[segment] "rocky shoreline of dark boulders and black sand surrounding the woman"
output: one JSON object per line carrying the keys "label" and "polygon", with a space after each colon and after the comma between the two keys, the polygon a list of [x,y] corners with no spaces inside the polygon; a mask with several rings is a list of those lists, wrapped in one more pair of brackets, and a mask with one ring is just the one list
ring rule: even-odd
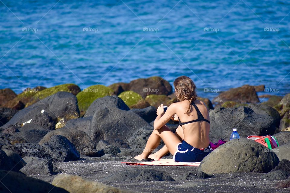
{"label": "rocky shoreline of dark boulders and black sand surrounding the woman", "polygon": [[[177,102],[172,86],[160,77],[84,90],[75,84],[27,88],[18,95],[2,89],[0,176],[8,184],[0,184],[0,190],[288,192],[290,94],[264,95],[269,100],[260,103],[257,92],[264,89],[244,85],[221,92],[212,102],[198,98],[211,109],[212,142],[229,140],[232,128],[241,137],[218,147],[199,167],[121,164],[145,146],[156,108]],[[175,131],[178,124],[167,126]],[[276,136],[279,147],[270,150],[247,139],[268,134]],[[32,191],[35,183],[43,186]]]}

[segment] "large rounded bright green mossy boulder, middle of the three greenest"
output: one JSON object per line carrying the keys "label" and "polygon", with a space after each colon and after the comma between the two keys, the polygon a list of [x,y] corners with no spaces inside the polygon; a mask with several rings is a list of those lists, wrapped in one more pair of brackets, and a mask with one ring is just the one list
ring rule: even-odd
{"label": "large rounded bright green mossy boulder, middle of the three greenest", "polygon": [[111,95],[114,95],[114,90],[101,84],[90,86],[79,92],[76,97],[81,116],[96,99]]}

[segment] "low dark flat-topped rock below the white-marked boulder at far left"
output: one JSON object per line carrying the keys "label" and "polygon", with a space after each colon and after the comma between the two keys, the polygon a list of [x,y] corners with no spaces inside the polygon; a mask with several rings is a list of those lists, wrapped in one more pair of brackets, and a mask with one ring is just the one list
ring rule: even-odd
{"label": "low dark flat-topped rock below the white-marked boulder at far left", "polygon": [[29,131],[21,131],[15,133],[14,135],[16,137],[23,138],[27,143],[37,144],[46,134],[47,131],[29,130]]}

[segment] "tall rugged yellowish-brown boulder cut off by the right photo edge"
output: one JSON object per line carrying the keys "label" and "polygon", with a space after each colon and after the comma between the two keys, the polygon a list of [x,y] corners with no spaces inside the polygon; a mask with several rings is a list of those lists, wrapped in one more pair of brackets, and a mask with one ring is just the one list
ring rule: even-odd
{"label": "tall rugged yellowish-brown boulder cut off by the right photo edge", "polygon": [[274,109],[281,116],[279,129],[281,131],[290,131],[290,94],[285,95],[280,103],[274,106]]}

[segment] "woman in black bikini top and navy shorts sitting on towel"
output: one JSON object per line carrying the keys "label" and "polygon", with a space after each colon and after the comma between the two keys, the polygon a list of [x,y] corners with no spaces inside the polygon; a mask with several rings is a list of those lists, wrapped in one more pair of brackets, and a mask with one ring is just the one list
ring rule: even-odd
{"label": "woman in black bikini top and navy shorts sitting on towel", "polygon": [[[205,103],[196,100],[194,82],[187,76],[180,76],[173,84],[180,102],[172,103],[166,112],[163,104],[158,107],[154,130],[143,153],[135,157],[137,160],[159,160],[170,152],[176,162],[199,162],[210,153],[208,109]],[[170,119],[179,121],[175,133],[165,125]],[[150,155],[161,139],[165,146]]]}

